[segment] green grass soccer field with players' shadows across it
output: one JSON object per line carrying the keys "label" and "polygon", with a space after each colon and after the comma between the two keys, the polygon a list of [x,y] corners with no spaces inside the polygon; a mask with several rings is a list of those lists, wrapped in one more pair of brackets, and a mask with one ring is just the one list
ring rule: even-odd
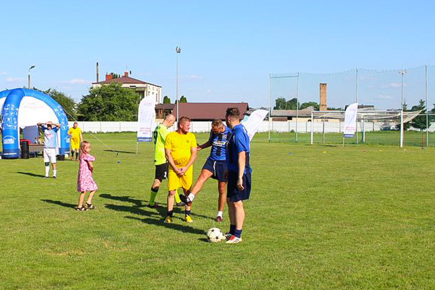
{"label": "green grass soccer field with players' shadows across it", "polygon": [[[0,289],[433,289],[435,148],[251,144],[253,191],[243,242],[212,244],[217,184],[206,183],[193,224],[146,204],[153,146],[135,134],[90,135],[99,186],[77,203],[77,162],[0,160]],[[205,141],[207,134],[198,134]],[[194,164],[198,175],[208,150]],[[118,161],[120,163],[118,163]],[[157,196],[164,203],[166,182]]]}

